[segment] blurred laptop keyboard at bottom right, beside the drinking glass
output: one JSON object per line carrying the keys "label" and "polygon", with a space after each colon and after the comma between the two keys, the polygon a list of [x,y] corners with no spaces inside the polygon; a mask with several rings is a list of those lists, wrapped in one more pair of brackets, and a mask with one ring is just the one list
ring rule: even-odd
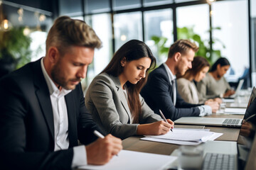
{"label": "blurred laptop keyboard at bottom right, beside the drinking glass", "polygon": [[235,155],[207,153],[203,159],[203,169],[235,169]]}

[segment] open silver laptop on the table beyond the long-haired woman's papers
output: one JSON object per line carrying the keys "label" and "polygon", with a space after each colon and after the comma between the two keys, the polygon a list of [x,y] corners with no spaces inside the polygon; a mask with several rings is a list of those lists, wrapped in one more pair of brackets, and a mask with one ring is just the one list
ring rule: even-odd
{"label": "open silver laptop on the table beyond the long-haired woman's papers", "polygon": [[[249,102],[247,104],[247,109],[250,103],[255,100],[256,89],[253,87],[252,94],[250,95]],[[249,112],[245,111],[244,118],[247,118]],[[227,126],[227,127],[240,127],[242,125],[242,119],[238,118],[205,118],[205,117],[183,117],[174,121],[175,124],[183,125],[212,125],[212,126]]]}

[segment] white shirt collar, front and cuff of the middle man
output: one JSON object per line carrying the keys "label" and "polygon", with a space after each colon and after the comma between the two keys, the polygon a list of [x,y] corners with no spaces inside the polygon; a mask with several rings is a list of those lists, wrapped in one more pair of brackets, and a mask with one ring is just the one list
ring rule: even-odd
{"label": "white shirt collar, front and cuff of the middle man", "polygon": [[[167,66],[166,63],[163,63],[164,65],[164,68],[166,69],[166,72],[168,74],[168,77],[169,77],[169,81],[171,83],[171,81],[175,80],[176,79],[176,76],[171,72],[171,69],[169,69],[169,67]],[[172,83],[171,83],[172,84]],[[176,93],[177,91],[173,91],[173,94],[175,94],[175,103],[174,103],[174,106],[176,104]],[[202,106],[198,106],[199,110],[200,110],[200,114],[199,116],[204,116],[204,115],[211,115],[212,114],[212,109],[210,108],[210,106],[208,105],[202,105]]]}

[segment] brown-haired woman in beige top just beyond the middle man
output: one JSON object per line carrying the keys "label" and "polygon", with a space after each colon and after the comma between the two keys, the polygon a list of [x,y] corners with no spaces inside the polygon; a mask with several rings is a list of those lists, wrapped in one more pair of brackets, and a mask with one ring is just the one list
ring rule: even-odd
{"label": "brown-haired woman in beige top just beyond the middle man", "polygon": [[203,98],[196,89],[196,84],[193,81],[199,82],[206,77],[210,67],[209,62],[204,57],[194,57],[192,68],[188,69],[186,73],[177,79],[178,94],[184,101],[192,104],[205,103],[210,105],[212,102],[222,103],[220,98],[208,99]]}

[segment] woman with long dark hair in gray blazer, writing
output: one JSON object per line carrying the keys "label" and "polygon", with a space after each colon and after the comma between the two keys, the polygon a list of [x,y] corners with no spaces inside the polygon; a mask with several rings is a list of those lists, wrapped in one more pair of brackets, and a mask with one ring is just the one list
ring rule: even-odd
{"label": "woman with long dark hair in gray blazer, writing", "polygon": [[85,105],[106,132],[124,139],[132,135],[162,135],[173,128],[171,120],[164,122],[139,95],[155,62],[144,42],[130,40],[93,79],[85,95]]}

